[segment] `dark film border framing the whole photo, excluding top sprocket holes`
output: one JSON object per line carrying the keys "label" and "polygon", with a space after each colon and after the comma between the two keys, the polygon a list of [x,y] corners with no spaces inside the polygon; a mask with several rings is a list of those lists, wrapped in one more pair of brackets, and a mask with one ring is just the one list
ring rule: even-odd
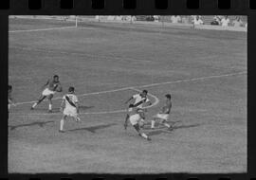
{"label": "dark film border framing the whole photo, excluding top sprocket holes", "polygon": [[[200,0],[199,9],[186,9],[187,0],[168,0],[167,9],[155,9],[155,0],[137,0],[137,9],[122,9],[122,0],[105,0],[104,9],[92,9],[91,0],[74,0],[73,9],[60,9],[60,0],[42,0],[42,9],[28,9],[27,0],[9,0],[9,9],[0,9],[0,79],[1,99],[7,100],[8,92],[8,53],[9,53],[9,15],[247,15],[247,173],[230,174],[8,174],[8,108],[1,106],[0,126],[0,179],[189,179],[200,180],[228,178],[230,180],[249,180],[256,178],[256,108],[254,65],[256,60],[256,9],[249,9],[249,0],[231,0],[230,9],[218,9],[217,0]],[[0,4],[2,1],[0,1]],[[254,60],[254,61],[253,61]],[[4,100],[4,101],[5,101]]]}

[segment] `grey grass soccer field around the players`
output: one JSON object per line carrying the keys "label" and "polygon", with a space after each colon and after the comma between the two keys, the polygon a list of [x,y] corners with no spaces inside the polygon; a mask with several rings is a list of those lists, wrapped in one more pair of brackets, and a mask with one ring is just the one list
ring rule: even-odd
{"label": "grey grass soccer field around the players", "polygon": [[[68,28],[60,28],[67,26]],[[246,172],[247,33],[9,19],[9,172]],[[31,30],[31,29],[46,30]],[[28,31],[19,31],[28,30]],[[82,123],[60,134],[60,97],[30,111],[54,74],[76,87]],[[170,122],[123,129],[124,101],[147,89],[148,123],[173,96]],[[157,125],[157,124],[156,124]]]}

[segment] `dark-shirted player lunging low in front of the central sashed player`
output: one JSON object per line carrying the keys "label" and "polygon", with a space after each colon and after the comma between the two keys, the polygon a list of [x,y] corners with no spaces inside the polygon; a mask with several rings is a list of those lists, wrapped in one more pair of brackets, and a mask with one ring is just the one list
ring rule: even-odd
{"label": "dark-shirted player lunging low in front of the central sashed player", "polygon": [[144,114],[143,110],[137,109],[136,114],[130,116],[129,120],[130,120],[131,124],[133,125],[133,127],[136,129],[139,136],[142,136],[147,140],[151,140],[151,138],[148,135],[140,132],[139,123],[140,123],[140,120],[142,119],[143,114]]}

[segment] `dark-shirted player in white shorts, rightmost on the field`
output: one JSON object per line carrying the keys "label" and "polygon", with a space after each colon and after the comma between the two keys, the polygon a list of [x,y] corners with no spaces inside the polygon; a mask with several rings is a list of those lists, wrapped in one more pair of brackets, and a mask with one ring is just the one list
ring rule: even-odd
{"label": "dark-shirted player in white shorts, rightmost on the field", "polygon": [[172,108],[171,95],[167,94],[167,95],[165,95],[165,97],[166,97],[165,105],[162,107],[162,110],[158,114],[156,114],[154,116],[154,119],[151,121],[151,128],[152,129],[155,128],[155,120],[159,119],[160,122],[164,126],[169,128],[169,130],[172,130],[172,126],[166,122],[169,118],[169,115],[171,113],[171,108]]}

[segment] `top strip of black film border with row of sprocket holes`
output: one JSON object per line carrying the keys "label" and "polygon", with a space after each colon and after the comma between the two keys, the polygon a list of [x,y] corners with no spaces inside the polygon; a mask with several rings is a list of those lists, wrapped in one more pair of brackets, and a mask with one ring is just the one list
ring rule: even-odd
{"label": "top strip of black film border with row of sprocket holes", "polygon": [[1,0],[0,11],[16,14],[240,14],[255,0]]}

